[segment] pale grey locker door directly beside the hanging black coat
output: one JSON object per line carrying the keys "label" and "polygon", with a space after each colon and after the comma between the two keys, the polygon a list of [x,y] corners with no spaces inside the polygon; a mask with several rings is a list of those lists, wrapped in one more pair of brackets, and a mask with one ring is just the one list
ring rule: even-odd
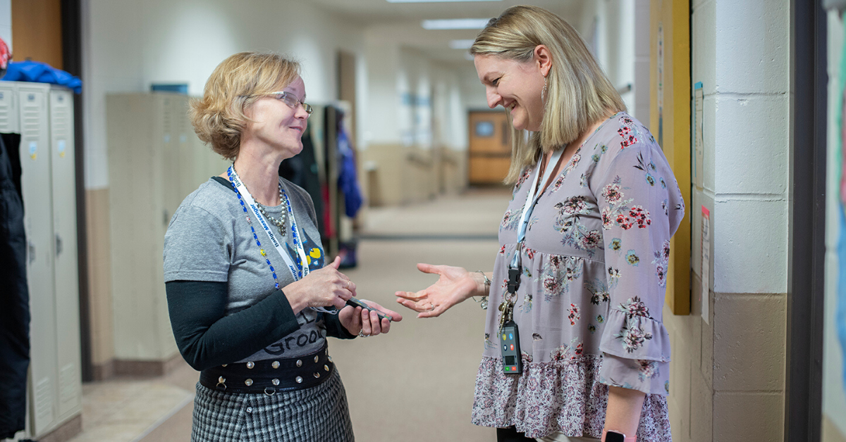
{"label": "pale grey locker door directly beside the hanging black coat", "polygon": [[36,435],[57,417],[56,299],[53,296],[53,228],[47,86],[18,88],[21,129],[21,187],[27,238],[26,278],[30,286],[31,398]]}

